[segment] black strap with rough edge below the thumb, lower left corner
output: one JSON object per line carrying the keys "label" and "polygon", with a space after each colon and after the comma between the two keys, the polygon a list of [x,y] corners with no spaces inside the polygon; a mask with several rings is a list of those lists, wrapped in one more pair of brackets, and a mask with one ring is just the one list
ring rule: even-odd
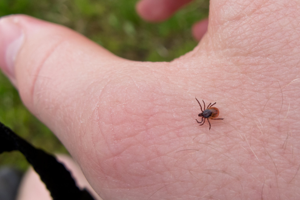
{"label": "black strap with rough edge below the thumb, lower left corner", "polygon": [[0,122],[0,153],[20,151],[40,175],[53,200],[94,200],[87,190],[80,190],[70,172],[56,158],[36,149]]}

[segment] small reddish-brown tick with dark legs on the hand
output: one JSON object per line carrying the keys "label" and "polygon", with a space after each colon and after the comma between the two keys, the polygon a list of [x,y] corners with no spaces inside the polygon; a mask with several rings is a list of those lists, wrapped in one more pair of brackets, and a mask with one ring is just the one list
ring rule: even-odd
{"label": "small reddish-brown tick with dark legs on the hand", "polygon": [[[195,99],[197,100],[197,98],[195,97]],[[202,99],[203,101],[203,99]],[[200,105],[200,108],[201,108],[201,111],[202,113],[199,113],[199,117],[201,117],[201,121],[198,121],[196,119],[196,121],[200,124],[199,126],[202,126],[205,122],[205,119],[207,119],[208,121],[208,124],[209,124],[209,130],[210,130],[210,122],[208,119],[211,119],[211,120],[223,120],[223,118],[216,118],[218,115],[219,115],[219,109],[217,109],[216,107],[212,107],[213,105],[215,105],[217,102],[214,102],[213,104],[210,103],[208,104],[207,106],[207,109],[205,109],[205,103],[203,101],[203,104],[204,104],[204,111],[202,110],[202,106],[200,104],[200,102],[197,100],[198,104]],[[202,123],[203,122],[203,123]]]}

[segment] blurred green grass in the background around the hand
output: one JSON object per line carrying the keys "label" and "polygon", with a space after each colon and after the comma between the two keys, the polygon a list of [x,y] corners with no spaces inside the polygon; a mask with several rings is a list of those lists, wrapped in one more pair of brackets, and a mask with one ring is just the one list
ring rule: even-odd
{"label": "blurred green grass in the background around the hand", "polygon": [[[208,16],[208,0],[196,0],[163,23],[147,23],[135,12],[137,0],[1,0],[0,16],[22,13],[62,24],[82,33],[112,53],[131,60],[170,61],[197,42],[192,24]],[[22,105],[17,91],[0,72],[0,121],[34,146],[67,153],[63,145]],[[25,170],[20,153],[0,155],[0,166]]]}

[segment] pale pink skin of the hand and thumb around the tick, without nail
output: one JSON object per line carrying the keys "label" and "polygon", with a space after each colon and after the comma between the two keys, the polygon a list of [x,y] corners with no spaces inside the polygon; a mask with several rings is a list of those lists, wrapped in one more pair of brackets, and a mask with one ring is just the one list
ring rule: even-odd
{"label": "pale pink skin of the hand and thumb around the tick, without nail", "polygon": [[[170,63],[16,16],[26,39],[8,76],[105,200],[299,199],[299,8],[212,0],[206,35]],[[224,118],[210,131],[195,96]]]}

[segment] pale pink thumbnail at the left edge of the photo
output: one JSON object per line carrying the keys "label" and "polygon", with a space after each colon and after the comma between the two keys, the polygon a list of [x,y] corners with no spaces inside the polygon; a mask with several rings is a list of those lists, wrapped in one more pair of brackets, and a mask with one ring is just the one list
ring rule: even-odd
{"label": "pale pink thumbnail at the left edge of the photo", "polygon": [[0,67],[10,77],[14,77],[14,63],[23,40],[24,32],[17,17],[0,18]]}

